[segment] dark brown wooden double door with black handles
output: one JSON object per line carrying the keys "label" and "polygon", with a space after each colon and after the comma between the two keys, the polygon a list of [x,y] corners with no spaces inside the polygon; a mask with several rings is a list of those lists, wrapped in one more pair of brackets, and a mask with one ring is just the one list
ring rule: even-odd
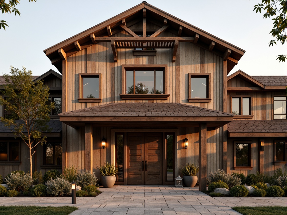
{"label": "dark brown wooden double door with black handles", "polygon": [[162,185],[162,133],[127,133],[127,184]]}

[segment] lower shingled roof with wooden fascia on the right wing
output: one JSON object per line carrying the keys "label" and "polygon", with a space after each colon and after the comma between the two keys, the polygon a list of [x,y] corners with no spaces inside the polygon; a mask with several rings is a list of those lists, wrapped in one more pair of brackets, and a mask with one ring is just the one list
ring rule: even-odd
{"label": "lower shingled roof with wooden fascia on the right wing", "polygon": [[228,137],[287,137],[287,120],[234,120]]}

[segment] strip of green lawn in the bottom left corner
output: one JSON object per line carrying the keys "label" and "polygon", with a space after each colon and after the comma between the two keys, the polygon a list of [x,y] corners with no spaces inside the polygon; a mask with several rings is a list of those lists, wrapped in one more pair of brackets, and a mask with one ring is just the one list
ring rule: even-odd
{"label": "strip of green lawn in the bottom left corner", "polygon": [[40,207],[40,206],[0,206],[1,215],[67,215],[77,210],[77,207],[62,206],[62,207]]}

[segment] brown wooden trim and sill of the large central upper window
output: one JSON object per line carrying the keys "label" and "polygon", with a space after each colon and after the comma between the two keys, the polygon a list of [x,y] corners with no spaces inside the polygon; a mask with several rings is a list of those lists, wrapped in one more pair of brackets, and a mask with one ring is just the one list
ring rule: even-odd
{"label": "brown wooden trim and sill of the large central upper window", "polygon": [[[126,88],[126,77],[125,77],[125,71],[126,70],[134,70],[134,69],[163,69],[164,73],[164,94],[126,94],[125,88]],[[144,65],[127,65],[123,64],[122,65],[122,90],[121,94],[119,96],[121,99],[135,99],[135,100],[154,100],[154,99],[159,99],[159,100],[167,100],[169,97],[168,93],[168,67],[166,64],[144,64]]]}

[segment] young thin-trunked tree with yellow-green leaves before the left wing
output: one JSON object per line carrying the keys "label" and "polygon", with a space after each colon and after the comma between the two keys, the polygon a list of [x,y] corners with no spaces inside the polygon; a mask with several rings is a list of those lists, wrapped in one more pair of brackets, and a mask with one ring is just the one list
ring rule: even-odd
{"label": "young thin-trunked tree with yellow-green leaves before the left wing", "polygon": [[49,103],[49,87],[42,80],[33,82],[32,71],[26,71],[10,67],[10,74],[4,74],[6,84],[3,95],[0,96],[0,105],[5,105],[5,112],[11,113],[9,117],[1,117],[13,131],[15,137],[21,137],[29,148],[30,175],[32,177],[32,156],[38,144],[46,142],[42,137],[44,131],[48,131],[51,108],[54,103]]}

